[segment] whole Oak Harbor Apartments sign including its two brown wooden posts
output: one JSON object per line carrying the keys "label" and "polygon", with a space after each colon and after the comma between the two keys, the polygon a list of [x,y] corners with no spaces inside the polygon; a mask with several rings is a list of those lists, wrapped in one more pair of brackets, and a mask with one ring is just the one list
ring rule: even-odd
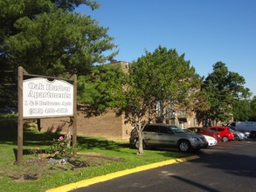
{"label": "whole Oak Harbor Apartments sign including its two brown wooden posts", "polygon": [[59,79],[29,74],[18,67],[17,165],[23,157],[24,119],[71,117],[73,147],[77,143],[77,76]]}

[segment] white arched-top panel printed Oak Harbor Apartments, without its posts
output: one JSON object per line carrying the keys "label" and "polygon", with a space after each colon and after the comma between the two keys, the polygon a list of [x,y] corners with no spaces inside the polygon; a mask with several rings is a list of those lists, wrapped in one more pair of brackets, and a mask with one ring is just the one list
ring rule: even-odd
{"label": "white arched-top panel printed Oak Harbor Apartments, without its posts", "polygon": [[23,80],[23,117],[73,116],[73,85],[65,80]]}

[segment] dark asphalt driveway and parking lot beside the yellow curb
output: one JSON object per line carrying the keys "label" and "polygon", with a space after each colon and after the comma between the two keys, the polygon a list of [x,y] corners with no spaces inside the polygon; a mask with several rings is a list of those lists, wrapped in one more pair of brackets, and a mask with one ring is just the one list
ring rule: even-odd
{"label": "dark asphalt driveway and parking lot beside the yellow curb", "polygon": [[256,140],[219,142],[197,159],[100,182],[74,191],[255,191]]}

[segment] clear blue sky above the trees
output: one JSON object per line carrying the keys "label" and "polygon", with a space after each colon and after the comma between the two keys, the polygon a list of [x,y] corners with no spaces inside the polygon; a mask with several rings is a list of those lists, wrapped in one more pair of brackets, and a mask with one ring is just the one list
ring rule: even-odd
{"label": "clear blue sky above the trees", "polygon": [[108,27],[118,61],[132,62],[159,45],[185,54],[207,77],[212,65],[225,63],[256,95],[255,0],[98,0],[100,8],[76,11]]}

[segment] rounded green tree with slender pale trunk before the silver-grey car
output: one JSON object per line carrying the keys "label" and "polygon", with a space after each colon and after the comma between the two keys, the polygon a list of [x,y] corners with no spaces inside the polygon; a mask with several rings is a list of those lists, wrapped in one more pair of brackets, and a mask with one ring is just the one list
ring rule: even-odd
{"label": "rounded green tree with slender pale trunk before the silver-grey car", "polygon": [[[145,52],[129,65],[128,79],[120,93],[116,93],[118,113],[124,113],[128,122],[137,130],[138,154],[143,153],[142,128],[147,122],[156,121],[158,102],[189,106],[200,79],[190,61],[184,60],[176,50],[159,46],[156,51]],[[165,102],[167,101],[167,102]],[[161,109],[162,110],[162,109]]]}

